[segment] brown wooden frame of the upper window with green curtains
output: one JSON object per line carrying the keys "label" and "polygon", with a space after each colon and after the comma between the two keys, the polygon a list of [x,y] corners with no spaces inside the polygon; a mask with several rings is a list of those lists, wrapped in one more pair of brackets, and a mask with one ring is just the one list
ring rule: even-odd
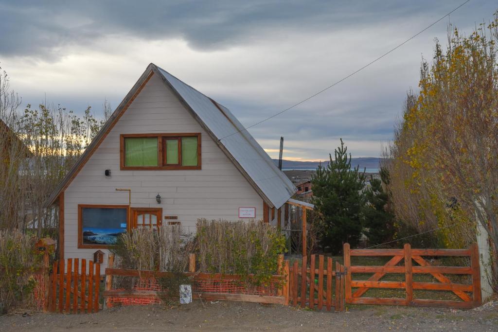
{"label": "brown wooden frame of the upper window with green curtains", "polygon": [[[157,137],[157,166],[125,166],[124,165],[124,139],[127,137]],[[181,165],[181,138],[197,137],[197,166]],[[166,139],[178,139],[178,164],[166,164]],[[121,134],[120,135],[120,169],[121,170],[200,170],[202,169],[201,159],[201,133],[147,133],[147,134]]]}

